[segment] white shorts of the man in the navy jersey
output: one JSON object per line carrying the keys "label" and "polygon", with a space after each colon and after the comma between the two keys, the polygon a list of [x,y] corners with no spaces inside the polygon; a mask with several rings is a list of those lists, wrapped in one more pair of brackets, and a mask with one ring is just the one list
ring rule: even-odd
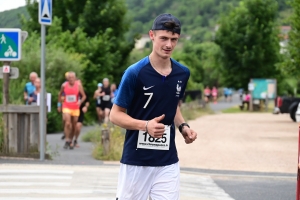
{"label": "white shorts of the man in the navy jersey", "polygon": [[178,200],[179,164],[144,167],[121,164],[117,200]]}

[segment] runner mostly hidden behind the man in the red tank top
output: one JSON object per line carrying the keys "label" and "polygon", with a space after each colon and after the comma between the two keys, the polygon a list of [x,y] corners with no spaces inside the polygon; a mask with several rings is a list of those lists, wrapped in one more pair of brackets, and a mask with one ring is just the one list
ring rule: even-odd
{"label": "runner mostly hidden behind the man in the red tank top", "polygon": [[[78,79],[77,82],[80,85],[82,85],[81,80]],[[88,95],[87,95],[85,90],[84,90],[84,94],[86,96],[86,99],[84,100],[84,102],[82,101],[82,103],[80,105],[80,114],[79,114],[79,117],[78,117],[78,121],[76,123],[75,132],[72,131],[71,141],[74,139],[74,142],[71,143],[71,146],[73,146],[73,147],[79,147],[77,141],[78,141],[78,137],[79,137],[79,134],[80,134],[80,131],[81,131],[81,128],[82,128],[82,124],[83,124],[83,120],[84,120],[84,114],[87,112],[87,110],[90,106],[89,98],[88,98]],[[80,100],[81,99],[82,99],[82,97],[80,95]],[[73,135],[73,133],[75,135]]]}

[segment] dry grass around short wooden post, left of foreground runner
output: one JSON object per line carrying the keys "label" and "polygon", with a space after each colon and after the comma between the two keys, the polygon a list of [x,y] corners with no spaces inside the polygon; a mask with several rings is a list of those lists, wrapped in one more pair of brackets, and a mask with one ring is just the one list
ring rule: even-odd
{"label": "dry grass around short wooden post, left of foreground runner", "polygon": [[121,159],[125,134],[123,129],[117,126],[110,128],[110,146],[109,153],[104,155],[103,145],[101,143],[101,130],[103,127],[97,127],[94,130],[89,131],[83,135],[82,140],[84,142],[92,142],[94,148],[92,156],[97,160],[110,160],[117,161]]}

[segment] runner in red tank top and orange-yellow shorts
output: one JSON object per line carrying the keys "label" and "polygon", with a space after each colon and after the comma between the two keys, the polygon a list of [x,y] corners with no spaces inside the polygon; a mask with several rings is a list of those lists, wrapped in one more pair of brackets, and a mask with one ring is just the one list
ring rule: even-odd
{"label": "runner in red tank top and orange-yellow shorts", "polygon": [[[80,115],[79,108],[81,102],[84,102],[86,99],[86,95],[83,91],[81,84],[79,84],[79,82],[76,81],[75,72],[68,73],[68,81],[63,83],[59,91],[59,95],[58,95],[59,100],[61,100],[62,93],[65,94],[65,98],[62,103],[62,112],[65,121],[64,133],[65,133],[65,140],[66,140],[64,148],[73,149],[73,146],[71,145],[72,131],[75,132],[78,117]],[[79,95],[81,95],[80,100],[79,100]]]}

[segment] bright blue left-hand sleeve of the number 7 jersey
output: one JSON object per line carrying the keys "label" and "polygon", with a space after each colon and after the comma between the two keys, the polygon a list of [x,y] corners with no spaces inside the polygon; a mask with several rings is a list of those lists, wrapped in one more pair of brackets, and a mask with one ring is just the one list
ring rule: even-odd
{"label": "bright blue left-hand sleeve of the number 7 jersey", "polygon": [[125,71],[118,88],[118,95],[114,104],[128,109],[135,95],[135,86],[137,80],[137,71],[134,67],[129,67]]}

